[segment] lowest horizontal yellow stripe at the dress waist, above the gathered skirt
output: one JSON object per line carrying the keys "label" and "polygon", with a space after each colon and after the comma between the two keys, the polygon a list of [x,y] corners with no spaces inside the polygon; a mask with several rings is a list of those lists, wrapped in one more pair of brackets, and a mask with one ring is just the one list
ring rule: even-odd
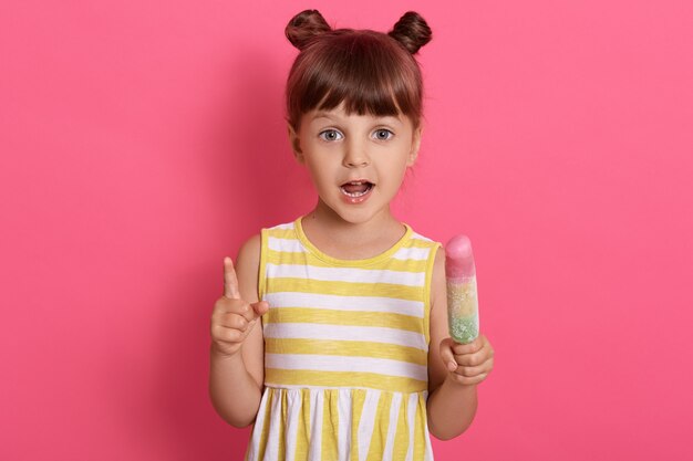
{"label": "lowest horizontal yellow stripe at the dress waist, above the gathered skirt", "polygon": [[427,388],[424,380],[400,376],[379,375],[362,371],[316,371],[267,368],[265,380],[268,385],[316,386],[316,387],[355,387],[390,390],[393,392],[420,392]]}

